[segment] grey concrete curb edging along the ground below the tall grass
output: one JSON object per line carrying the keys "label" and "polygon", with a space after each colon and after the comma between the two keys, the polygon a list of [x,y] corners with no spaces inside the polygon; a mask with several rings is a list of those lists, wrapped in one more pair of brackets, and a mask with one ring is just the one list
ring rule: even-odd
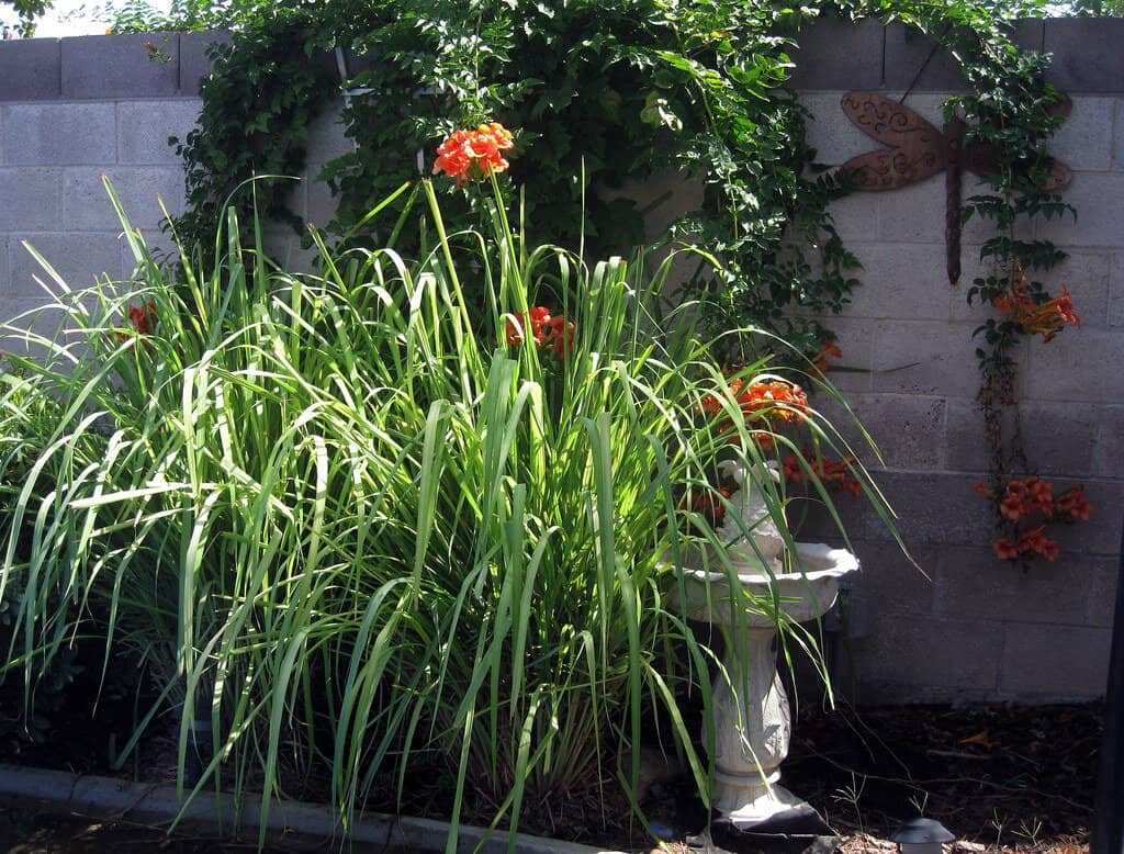
{"label": "grey concrete curb edging along the ground below the tall grass", "polygon": [[[175,787],[130,783],[106,776],[71,774],[64,771],[27,769],[0,764],[0,798],[36,801],[100,820],[130,820],[167,825],[181,814]],[[261,798],[246,798],[241,814],[234,796],[200,792],[182,811],[178,828],[203,836],[229,837],[236,825],[243,838],[256,839]],[[297,851],[330,851],[344,845],[379,846],[384,852],[443,852],[448,824],[427,818],[369,814],[355,821],[346,837],[338,817],[328,807],[273,800],[266,821],[265,844]],[[459,851],[501,854],[507,835],[462,825]],[[519,834],[518,854],[623,854],[588,845]]]}

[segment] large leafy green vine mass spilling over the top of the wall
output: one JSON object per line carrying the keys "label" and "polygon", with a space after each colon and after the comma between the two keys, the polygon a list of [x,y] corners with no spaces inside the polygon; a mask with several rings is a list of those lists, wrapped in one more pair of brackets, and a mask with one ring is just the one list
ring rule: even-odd
{"label": "large leafy green vine mass spilling over the top of the wall", "polygon": [[[1000,208],[1015,216],[1035,212],[1035,199],[1057,202],[1041,189],[1043,142],[1057,125],[1046,117],[1058,98],[1043,80],[1049,58],[1010,38],[1013,21],[1035,13],[1041,3],[1019,0],[179,0],[169,18],[127,4],[117,28],[234,31],[201,85],[199,126],[181,140],[181,237],[206,243],[251,175],[300,172],[309,124],[339,103],[338,47],[362,57],[348,85],[369,93],[344,110],[355,152],[320,175],[339,200],[337,234],[418,178],[418,152],[425,172],[451,129],[499,120],[517,130],[510,191],[533,236],[577,245],[584,229],[591,252],[626,249],[643,239],[644,211],[611,190],[668,170],[700,179],[701,207],[671,236],[723,261],[720,273],[701,267],[691,282],[709,321],[762,325],[815,353],[832,336],[809,318],[842,310],[859,265],[828,212],[846,179],[817,169],[807,113],[786,85],[801,33],[821,17],[874,17],[950,51],[970,88],[954,105],[969,139],[999,151],[998,201],[975,212],[1005,227]],[[290,187],[264,191],[282,218]],[[472,217],[473,196],[452,182],[448,192],[448,209]],[[1032,203],[1016,210],[1015,196]],[[252,203],[245,191],[234,199]],[[368,225],[386,236],[396,214]]]}

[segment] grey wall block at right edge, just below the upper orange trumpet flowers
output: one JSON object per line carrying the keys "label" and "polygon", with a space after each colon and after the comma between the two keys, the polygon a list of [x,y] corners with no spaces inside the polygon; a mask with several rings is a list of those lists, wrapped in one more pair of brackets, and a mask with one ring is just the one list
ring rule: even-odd
{"label": "grey wall block at right edge, just below the upper orange trumpet flowers", "polygon": [[1022,373],[1023,400],[1069,406],[1124,400],[1118,333],[1067,328],[1049,344],[1035,343]]}

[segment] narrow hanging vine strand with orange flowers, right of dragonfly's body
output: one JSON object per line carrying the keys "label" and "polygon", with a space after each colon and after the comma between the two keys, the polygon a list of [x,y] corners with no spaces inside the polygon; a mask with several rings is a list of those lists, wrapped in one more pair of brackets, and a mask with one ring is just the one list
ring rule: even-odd
{"label": "narrow hanging vine strand with orange flowers, right of dragonfly's body", "polygon": [[975,47],[973,62],[964,66],[973,94],[950,100],[946,112],[963,117],[967,138],[987,145],[998,166],[987,178],[988,191],[970,197],[963,207],[963,221],[980,217],[995,224],[994,236],[981,248],[990,272],[973,280],[968,301],[999,315],[976,330],[981,339],[976,355],[988,451],[988,479],[977,491],[995,507],[996,556],[1025,565],[1055,560],[1059,544],[1048,533],[1051,527],[1088,519],[1093,511],[1082,485],[1055,492],[1034,473],[1018,407],[1018,343],[1032,338],[1049,346],[1066,326],[1080,326],[1068,288],[1062,284],[1060,292],[1051,292],[1037,278],[1066,254],[1050,240],[1022,236],[1026,229],[1019,228],[1036,217],[1077,216],[1057,192],[1068,170],[1044,147],[1064,120],[1069,102],[1044,81],[1049,57],[988,43]]}

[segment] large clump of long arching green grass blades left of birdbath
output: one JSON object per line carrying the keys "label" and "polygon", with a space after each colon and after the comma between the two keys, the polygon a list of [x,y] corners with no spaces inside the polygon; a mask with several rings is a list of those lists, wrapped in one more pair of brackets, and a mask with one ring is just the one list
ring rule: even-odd
{"label": "large clump of long arching green grass blades left of birdbath", "polygon": [[[434,243],[416,261],[314,234],[319,274],[290,273],[230,221],[214,269],[167,269],[123,214],[133,282],[75,292],[44,262],[63,335],[26,334],[45,355],[0,399],[8,676],[97,633],[107,669],[130,649],[160,693],[123,761],[182,703],[181,774],[191,721],[215,725],[197,790],[268,810],[327,769],[344,827],[445,769],[450,851],[464,815],[514,844],[520,816],[607,784],[638,808],[655,718],[706,800],[709,739],[681,706],[708,719],[736,674],[678,606],[683,555],[720,546],[694,497],[763,453],[729,378],[691,307],[663,310],[670,260],[526,246],[498,203],[491,233],[447,235],[414,192]],[[715,401],[733,430],[700,417]]]}

